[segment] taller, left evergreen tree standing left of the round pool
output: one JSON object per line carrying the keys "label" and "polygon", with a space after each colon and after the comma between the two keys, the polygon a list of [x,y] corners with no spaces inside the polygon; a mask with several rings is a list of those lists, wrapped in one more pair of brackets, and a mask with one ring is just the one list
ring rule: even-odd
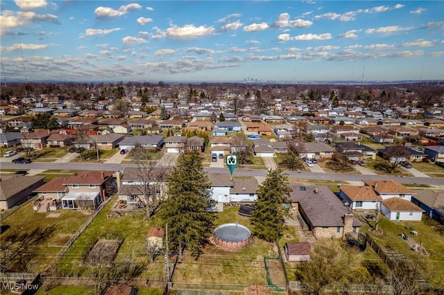
{"label": "taller, left evergreen tree standing left of the round pool", "polygon": [[211,184],[200,154],[181,154],[167,180],[168,199],[160,217],[168,224],[170,247],[177,249],[179,256],[183,248],[197,256],[210,238],[214,222],[214,215],[207,211],[212,206]]}

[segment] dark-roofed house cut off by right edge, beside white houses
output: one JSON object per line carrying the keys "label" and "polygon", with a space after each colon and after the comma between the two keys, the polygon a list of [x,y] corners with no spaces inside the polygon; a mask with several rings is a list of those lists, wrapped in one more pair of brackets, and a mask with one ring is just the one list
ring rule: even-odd
{"label": "dark-roofed house cut off by right edge, beside white houses", "polygon": [[444,219],[444,193],[439,190],[416,190],[411,202],[436,219]]}

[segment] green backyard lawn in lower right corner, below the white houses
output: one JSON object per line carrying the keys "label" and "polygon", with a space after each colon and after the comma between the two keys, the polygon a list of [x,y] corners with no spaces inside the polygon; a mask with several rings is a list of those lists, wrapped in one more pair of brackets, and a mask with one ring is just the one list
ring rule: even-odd
{"label": "green backyard lawn in lower right corner, below the white houses", "polygon": [[[409,244],[400,237],[400,233],[408,236],[409,240],[414,240],[416,244],[422,244],[422,247],[429,253],[429,256],[420,256],[425,263],[425,270],[427,274],[431,274],[430,283],[435,287],[444,287],[444,239],[443,239],[443,225],[438,224],[436,220],[432,220],[426,215],[422,215],[420,222],[400,222],[390,221],[386,217],[382,217],[379,223],[379,229],[383,231],[382,235],[375,235],[368,232],[370,226],[364,223],[361,232],[366,232],[370,235],[379,246],[390,247],[399,251],[407,258],[412,258],[417,254],[414,253]],[[372,225],[374,222],[370,222]],[[412,236],[406,226],[413,226],[418,236]]]}

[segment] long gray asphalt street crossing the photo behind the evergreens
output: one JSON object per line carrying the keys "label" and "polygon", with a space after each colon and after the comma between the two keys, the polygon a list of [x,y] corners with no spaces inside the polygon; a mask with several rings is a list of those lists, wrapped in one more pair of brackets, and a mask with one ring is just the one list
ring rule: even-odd
{"label": "long gray asphalt street crossing the photo behind the evergreens", "polygon": [[[126,167],[137,167],[135,164],[104,164],[104,163],[29,163],[29,164],[13,164],[0,163],[0,169],[44,169],[44,170],[123,170]],[[205,168],[207,172],[228,172],[227,168]],[[255,169],[235,169],[234,176],[253,176],[265,177],[266,170]],[[295,172],[286,171],[289,178],[293,179],[316,179],[327,180],[332,183],[341,183],[343,181],[361,181],[362,179],[395,179],[401,184],[431,184],[437,186],[444,185],[444,179],[441,177],[396,177],[384,175],[348,175],[348,174],[334,174],[334,173],[318,173],[318,172]]]}

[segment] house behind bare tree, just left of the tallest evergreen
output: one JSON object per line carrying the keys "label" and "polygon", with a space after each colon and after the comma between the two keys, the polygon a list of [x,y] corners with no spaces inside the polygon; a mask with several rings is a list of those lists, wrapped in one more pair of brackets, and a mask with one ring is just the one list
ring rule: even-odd
{"label": "house behind bare tree, just left of the tallest evergreen", "polygon": [[163,167],[125,168],[116,173],[117,195],[128,204],[146,204],[146,195],[164,197],[167,191],[167,175],[171,170]]}

